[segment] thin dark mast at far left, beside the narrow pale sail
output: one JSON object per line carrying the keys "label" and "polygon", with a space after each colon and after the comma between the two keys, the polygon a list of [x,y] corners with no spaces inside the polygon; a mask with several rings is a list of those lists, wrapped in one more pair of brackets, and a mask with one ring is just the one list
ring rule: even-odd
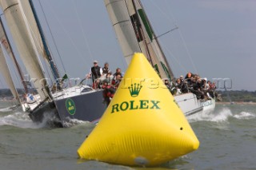
{"label": "thin dark mast at far left, beside the narrow pale sail", "polygon": [[14,51],[13,51],[11,45],[10,45],[9,38],[7,37],[7,34],[6,34],[6,29],[5,29],[5,27],[3,26],[3,24],[2,24],[2,18],[1,18],[1,17],[0,17],[0,24],[1,24],[1,26],[2,26],[2,31],[3,31],[3,33],[5,34],[5,38],[6,38],[6,42],[4,42],[4,41],[5,41],[4,39],[2,39],[1,41],[2,41],[2,43],[7,43],[7,44],[8,44],[8,47],[10,48],[10,56],[11,56],[11,58],[12,58],[13,61],[14,61],[14,65],[16,66],[16,69],[18,70],[18,75],[19,75],[19,77],[20,77],[20,79],[21,79],[21,81],[22,81],[22,85],[23,85],[23,87],[24,87],[24,90],[25,90],[26,93],[28,93],[29,91],[28,91],[28,89],[27,89],[26,81],[25,81],[25,79],[24,79],[24,77],[23,77],[23,74],[22,74],[22,69],[20,68],[20,66],[19,66],[19,64],[18,64],[18,61],[17,61],[17,59],[16,59],[16,57],[15,57],[15,55],[14,55]]}

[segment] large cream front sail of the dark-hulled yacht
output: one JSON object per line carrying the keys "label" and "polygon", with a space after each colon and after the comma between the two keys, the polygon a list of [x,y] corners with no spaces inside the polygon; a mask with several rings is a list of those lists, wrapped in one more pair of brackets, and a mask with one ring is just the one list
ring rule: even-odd
{"label": "large cream front sail of the dark-hulled yacht", "polygon": [[32,33],[31,24],[29,24],[33,21],[30,21],[30,17],[25,15],[22,3],[19,0],[0,0],[0,6],[5,14],[18,53],[26,66],[27,72],[33,78],[34,87],[37,89],[41,99],[44,100],[50,96],[50,93],[42,71],[42,65],[38,59],[37,42],[34,41],[34,33]]}

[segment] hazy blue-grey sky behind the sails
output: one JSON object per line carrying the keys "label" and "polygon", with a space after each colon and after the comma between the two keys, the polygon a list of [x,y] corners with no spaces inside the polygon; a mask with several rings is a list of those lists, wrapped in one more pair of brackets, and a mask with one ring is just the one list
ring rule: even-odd
{"label": "hazy blue-grey sky behind the sails", "polygon": [[[83,78],[94,60],[102,66],[108,61],[112,71],[117,67],[125,71],[103,0],[40,2],[54,42],[40,4],[34,1],[62,74],[66,70],[70,77]],[[256,1],[142,0],[142,5],[155,34],[178,26],[158,39],[176,77],[190,71],[209,80],[228,78],[232,89],[256,90]]]}

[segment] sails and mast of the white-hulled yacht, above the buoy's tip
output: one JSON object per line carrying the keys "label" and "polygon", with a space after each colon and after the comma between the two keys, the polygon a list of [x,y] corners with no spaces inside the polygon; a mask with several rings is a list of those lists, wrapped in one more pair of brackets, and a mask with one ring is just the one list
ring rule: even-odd
{"label": "sails and mast of the white-hulled yacht, above the buoy's tip", "polygon": [[154,35],[139,0],[104,0],[126,61],[142,52],[162,78],[174,79],[170,66]]}

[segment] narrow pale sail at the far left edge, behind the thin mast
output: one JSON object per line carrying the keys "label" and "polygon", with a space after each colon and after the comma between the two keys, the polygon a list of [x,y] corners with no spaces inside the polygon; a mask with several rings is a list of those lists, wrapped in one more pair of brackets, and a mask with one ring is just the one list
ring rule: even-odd
{"label": "narrow pale sail at the far left edge, behind the thin mast", "polygon": [[[1,42],[2,42],[2,28],[1,28],[1,26],[0,26],[0,38],[1,38]],[[3,77],[5,78],[6,83],[7,83],[8,87],[10,88],[10,91],[13,94],[14,98],[20,104],[20,99],[18,97],[18,92],[15,88],[14,81],[11,78],[10,69],[7,65],[6,58],[5,58],[5,56],[2,52],[2,45],[0,47],[0,71],[3,75]]]}

